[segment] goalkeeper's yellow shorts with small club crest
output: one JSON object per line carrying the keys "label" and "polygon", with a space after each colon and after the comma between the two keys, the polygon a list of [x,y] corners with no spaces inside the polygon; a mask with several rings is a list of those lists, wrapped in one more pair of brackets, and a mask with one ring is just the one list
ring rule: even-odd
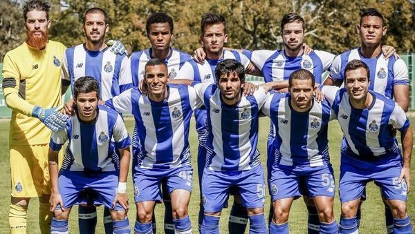
{"label": "goalkeeper's yellow shorts with small club crest", "polygon": [[[50,194],[48,144],[32,146],[10,145],[12,197],[39,197]],[[59,152],[62,162],[63,150]]]}

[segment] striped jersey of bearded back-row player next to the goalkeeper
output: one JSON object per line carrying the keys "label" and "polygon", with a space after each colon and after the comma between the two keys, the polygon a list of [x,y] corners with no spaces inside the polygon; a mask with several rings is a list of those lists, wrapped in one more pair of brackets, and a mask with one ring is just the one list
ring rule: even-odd
{"label": "striped jersey of bearded back-row player next to the goalkeeper", "polygon": [[94,77],[100,84],[101,99],[107,100],[132,88],[127,55],[116,55],[109,47],[102,51],[86,49],[85,44],[67,48],[62,59],[62,78],[71,86],[80,77]]}

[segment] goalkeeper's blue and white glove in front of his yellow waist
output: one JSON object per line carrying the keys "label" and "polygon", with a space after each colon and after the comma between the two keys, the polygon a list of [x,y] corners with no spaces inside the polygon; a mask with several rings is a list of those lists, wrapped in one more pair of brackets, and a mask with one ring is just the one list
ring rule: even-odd
{"label": "goalkeeper's blue and white glove in front of his yellow waist", "polygon": [[44,109],[35,106],[32,110],[32,116],[42,121],[46,127],[54,132],[62,130],[66,126],[66,116],[56,111],[56,108]]}

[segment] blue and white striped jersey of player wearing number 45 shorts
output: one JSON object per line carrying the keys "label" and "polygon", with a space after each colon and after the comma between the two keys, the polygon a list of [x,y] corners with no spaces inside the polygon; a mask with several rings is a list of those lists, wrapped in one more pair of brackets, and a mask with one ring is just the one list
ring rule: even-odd
{"label": "blue and white striped jersey of player wearing number 45 shorts", "polygon": [[106,102],[119,113],[133,114],[137,134],[133,137],[133,148],[139,148],[133,150],[133,157],[139,168],[191,166],[188,138],[190,118],[198,105],[196,92],[185,85],[167,87],[169,95],[160,102],[141,95],[136,87]]}

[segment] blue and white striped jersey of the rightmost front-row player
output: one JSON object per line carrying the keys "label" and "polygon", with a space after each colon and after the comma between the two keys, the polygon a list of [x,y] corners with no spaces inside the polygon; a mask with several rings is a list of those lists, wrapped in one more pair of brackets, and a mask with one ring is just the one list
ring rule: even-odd
{"label": "blue and white striped jersey of the rightmost front-row player", "polygon": [[403,131],[408,128],[409,119],[395,101],[369,91],[374,100],[369,108],[360,110],[351,106],[345,88],[324,86],[322,92],[344,133],[342,151],[348,150],[363,160],[400,155],[396,137],[392,136],[389,125]]}

